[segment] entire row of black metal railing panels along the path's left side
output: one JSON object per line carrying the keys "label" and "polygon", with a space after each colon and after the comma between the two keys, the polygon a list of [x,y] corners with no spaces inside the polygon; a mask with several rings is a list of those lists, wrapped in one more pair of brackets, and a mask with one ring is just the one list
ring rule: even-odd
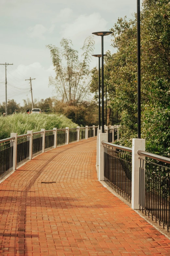
{"label": "entire row of black metal railing panels along the path's left side", "polygon": [[[97,135],[97,126],[95,127],[95,135]],[[78,128],[70,129],[69,143],[78,140]],[[56,130],[45,131],[45,151],[54,148],[54,134]],[[86,138],[87,128],[80,128],[80,140]],[[93,137],[94,130],[89,127],[88,136]],[[30,158],[30,136],[31,134],[23,134],[17,136],[17,163],[16,167],[29,160]],[[0,140],[0,179],[6,176],[13,169],[13,155],[15,138],[7,138]],[[42,152],[43,148],[43,131],[35,132],[32,136],[32,157]],[[57,129],[57,147],[67,144],[67,129]],[[15,148],[16,149],[16,148]]]}

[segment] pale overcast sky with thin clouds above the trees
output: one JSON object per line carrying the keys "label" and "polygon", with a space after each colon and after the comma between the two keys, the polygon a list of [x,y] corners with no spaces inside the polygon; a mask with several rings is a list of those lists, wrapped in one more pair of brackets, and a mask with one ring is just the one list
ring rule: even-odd
{"label": "pale overcast sky with thin clouds above the trees", "polygon": [[[59,46],[60,40],[71,39],[79,50],[92,32],[109,30],[118,17],[131,18],[136,0],[1,0],[0,1],[0,63],[13,63],[7,68],[8,99],[23,104],[31,98],[55,96],[48,87],[48,77],[55,75],[50,52],[45,45]],[[104,38],[104,52],[111,36]],[[100,37],[95,36],[94,54],[101,52]],[[92,59],[91,67],[97,65]],[[5,101],[5,67],[0,65],[0,103]]]}

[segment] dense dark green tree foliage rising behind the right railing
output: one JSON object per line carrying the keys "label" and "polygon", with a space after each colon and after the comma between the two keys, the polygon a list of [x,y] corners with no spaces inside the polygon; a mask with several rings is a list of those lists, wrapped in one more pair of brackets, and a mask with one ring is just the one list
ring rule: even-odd
{"label": "dense dark green tree foliage rising behind the right railing", "polygon": [[[137,137],[136,14],[111,29],[117,49],[105,59],[110,104],[121,113],[120,143]],[[141,11],[142,138],[147,150],[170,155],[170,2],[144,0]]]}

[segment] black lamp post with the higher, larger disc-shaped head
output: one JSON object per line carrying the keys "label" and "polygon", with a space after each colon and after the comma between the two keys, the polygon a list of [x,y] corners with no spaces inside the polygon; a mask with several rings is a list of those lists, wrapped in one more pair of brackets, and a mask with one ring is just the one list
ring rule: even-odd
{"label": "black lamp post with the higher, larger disc-shaped head", "polygon": [[93,35],[101,36],[101,128],[104,133],[104,54],[103,54],[103,37],[112,34],[110,31],[94,32]]}

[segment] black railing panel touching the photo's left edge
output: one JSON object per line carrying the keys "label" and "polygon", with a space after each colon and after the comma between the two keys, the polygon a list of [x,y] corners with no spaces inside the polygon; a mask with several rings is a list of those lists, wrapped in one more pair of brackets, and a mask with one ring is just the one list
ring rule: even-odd
{"label": "black railing panel touching the photo's left edge", "polygon": [[13,167],[13,141],[0,142],[0,179],[3,179]]}

